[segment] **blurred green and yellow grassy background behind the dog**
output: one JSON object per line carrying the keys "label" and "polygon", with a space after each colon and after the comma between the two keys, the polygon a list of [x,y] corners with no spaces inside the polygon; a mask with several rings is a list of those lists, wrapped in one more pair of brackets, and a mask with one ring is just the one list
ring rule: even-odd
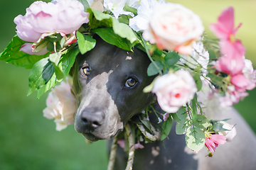
{"label": "blurred green and yellow grassy background behind the dog", "polygon": [[[191,8],[201,16],[209,36],[209,23],[217,21],[223,8],[234,6],[235,23],[242,22],[237,38],[247,47],[246,57],[256,67],[256,1],[255,0],[179,0],[172,1]],[[24,15],[33,0],[0,1],[0,51],[15,34],[14,18]],[[43,117],[45,94],[26,96],[29,70],[0,62],[0,169],[107,169],[105,141],[92,145],[75,132],[72,125],[55,131],[55,123]],[[256,132],[256,90],[235,105]]]}

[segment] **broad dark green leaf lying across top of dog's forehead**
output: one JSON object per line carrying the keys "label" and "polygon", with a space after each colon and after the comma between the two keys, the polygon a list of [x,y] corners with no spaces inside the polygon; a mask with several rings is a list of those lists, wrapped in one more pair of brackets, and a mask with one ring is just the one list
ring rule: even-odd
{"label": "broad dark green leaf lying across top of dog's forehead", "polygon": [[97,33],[97,35],[105,40],[106,42],[116,45],[119,48],[122,48],[127,51],[132,51],[132,44],[124,38],[121,38],[119,35],[114,33],[112,28],[97,28],[91,30],[92,33]]}

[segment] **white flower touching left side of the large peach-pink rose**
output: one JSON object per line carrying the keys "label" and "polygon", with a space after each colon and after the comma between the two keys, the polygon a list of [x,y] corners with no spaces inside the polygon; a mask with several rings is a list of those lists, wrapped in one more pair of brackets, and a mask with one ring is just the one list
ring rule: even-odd
{"label": "white flower touching left side of the large peach-pink rose", "polygon": [[137,8],[137,16],[129,19],[129,27],[135,31],[146,30],[149,28],[150,17],[154,8],[159,4],[167,4],[164,0],[142,0]]}

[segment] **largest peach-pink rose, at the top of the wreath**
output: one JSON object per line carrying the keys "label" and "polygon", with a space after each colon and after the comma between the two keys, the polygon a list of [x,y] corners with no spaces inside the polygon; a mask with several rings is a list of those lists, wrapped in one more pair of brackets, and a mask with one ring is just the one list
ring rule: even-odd
{"label": "largest peach-pink rose, at the top of the wreath", "polygon": [[154,8],[149,28],[143,38],[159,49],[175,50],[183,55],[192,52],[192,42],[203,34],[203,23],[193,11],[181,4],[159,4]]}

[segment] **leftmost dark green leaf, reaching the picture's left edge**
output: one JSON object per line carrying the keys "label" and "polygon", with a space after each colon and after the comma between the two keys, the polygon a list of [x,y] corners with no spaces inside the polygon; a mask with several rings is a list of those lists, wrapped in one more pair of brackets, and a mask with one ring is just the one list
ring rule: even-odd
{"label": "leftmost dark green leaf, reaching the picture's left edge", "polygon": [[48,57],[49,53],[46,55],[28,55],[25,52],[20,51],[21,45],[24,43],[26,43],[26,41],[23,41],[18,38],[17,35],[14,35],[14,38],[4,49],[4,52],[1,53],[0,60],[14,64],[16,67],[31,69],[33,64],[45,57]]}

